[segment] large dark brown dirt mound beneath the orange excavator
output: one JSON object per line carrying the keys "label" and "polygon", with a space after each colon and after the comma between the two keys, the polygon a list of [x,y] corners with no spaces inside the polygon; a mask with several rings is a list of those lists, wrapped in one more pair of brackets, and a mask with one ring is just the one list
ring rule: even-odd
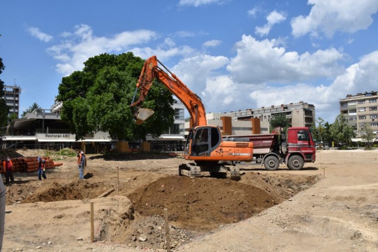
{"label": "large dark brown dirt mound beneath the orange excavator", "polygon": [[169,176],[128,195],[143,216],[169,212],[169,220],[205,231],[247,219],[281,201],[269,191],[236,181]]}

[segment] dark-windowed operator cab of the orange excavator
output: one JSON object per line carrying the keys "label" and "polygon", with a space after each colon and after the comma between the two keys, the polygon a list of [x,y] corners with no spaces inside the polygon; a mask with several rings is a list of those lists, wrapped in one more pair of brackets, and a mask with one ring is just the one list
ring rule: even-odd
{"label": "dark-windowed operator cab of the orange excavator", "polygon": [[215,126],[198,126],[190,130],[185,156],[210,157],[221,144],[221,131]]}

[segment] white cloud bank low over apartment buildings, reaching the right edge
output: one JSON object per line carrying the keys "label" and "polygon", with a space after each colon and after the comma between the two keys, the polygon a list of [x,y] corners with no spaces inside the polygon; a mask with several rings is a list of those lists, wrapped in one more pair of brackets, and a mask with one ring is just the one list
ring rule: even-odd
{"label": "white cloud bank low over apartment buildings, reaching the right edge", "polygon": [[377,91],[378,51],[372,52],[358,63],[350,65],[329,86],[296,84],[285,87],[267,86],[250,93],[257,107],[305,101],[315,105],[316,118],[333,123],[339,111],[339,99],[346,95]]}

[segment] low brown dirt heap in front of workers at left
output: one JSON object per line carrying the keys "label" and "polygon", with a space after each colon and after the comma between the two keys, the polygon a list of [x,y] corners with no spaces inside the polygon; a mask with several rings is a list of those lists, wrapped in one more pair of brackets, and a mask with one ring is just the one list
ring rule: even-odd
{"label": "low brown dirt heap in front of workers at left", "polygon": [[101,182],[89,183],[87,181],[77,181],[65,185],[54,182],[47,187],[35,190],[35,192],[25,198],[22,203],[95,198],[106,190],[107,188],[104,187]]}

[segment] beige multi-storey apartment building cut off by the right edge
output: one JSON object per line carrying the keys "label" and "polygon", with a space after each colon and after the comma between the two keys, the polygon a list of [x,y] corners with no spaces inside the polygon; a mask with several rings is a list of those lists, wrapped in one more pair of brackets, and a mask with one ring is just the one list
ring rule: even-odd
{"label": "beige multi-storey apartment building cut off by the right edge", "polygon": [[378,133],[377,101],[378,92],[374,91],[347,95],[346,98],[340,99],[340,113],[348,119],[356,137],[361,137],[365,124]]}

